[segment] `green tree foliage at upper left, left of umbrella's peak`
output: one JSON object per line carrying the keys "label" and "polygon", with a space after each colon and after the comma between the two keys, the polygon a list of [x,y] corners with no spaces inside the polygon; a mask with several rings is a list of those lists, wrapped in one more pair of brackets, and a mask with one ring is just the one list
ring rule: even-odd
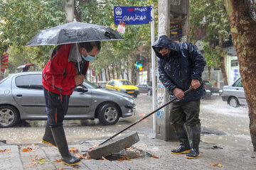
{"label": "green tree foliage at upper left, left of umbrella's peak", "polygon": [[[9,69],[33,62],[41,65],[51,47],[25,47],[40,30],[65,23],[62,0],[0,1],[0,53],[9,46]],[[15,49],[14,49],[15,48]],[[43,58],[42,58],[43,57]],[[49,58],[49,57],[48,57]]]}

